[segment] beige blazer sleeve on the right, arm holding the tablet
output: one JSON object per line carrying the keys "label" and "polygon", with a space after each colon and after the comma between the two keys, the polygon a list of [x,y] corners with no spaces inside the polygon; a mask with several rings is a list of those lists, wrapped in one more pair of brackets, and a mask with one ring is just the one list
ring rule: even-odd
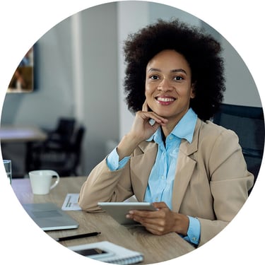
{"label": "beige blazer sleeve on the right, arm holding the tablet", "polygon": [[247,171],[238,137],[230,130],[224,130],[214,142],[208,158],[208,170],[216,220],[198,218],[201,223],[199,245],[211,240],[236,216],[254,182],[253,175]]}

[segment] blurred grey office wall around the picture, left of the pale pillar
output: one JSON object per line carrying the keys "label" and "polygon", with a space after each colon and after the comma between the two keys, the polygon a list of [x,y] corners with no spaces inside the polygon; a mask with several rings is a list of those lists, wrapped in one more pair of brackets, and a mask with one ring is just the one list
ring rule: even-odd
{"label": "blurred grey office wall around the picture, left of the pale pillar", "polygon": [[[37,41],[35,91],[6,95],[1,124],[53,129],[58,117],[76,117],[86,126],[81,174],[88,175],[104,158],[106,142],[117,140],[119,132],[117,8],[114,3],[103,4],[75,16],[77,23],[73,16],[66,18]],[[79,39],[73,30],[81,33]],[[81,69],[81,84],[76,81],[76,67]],[[20,175],[25,146],[8,145],[3,151],[6,158],[13,158],[14,175]]]}

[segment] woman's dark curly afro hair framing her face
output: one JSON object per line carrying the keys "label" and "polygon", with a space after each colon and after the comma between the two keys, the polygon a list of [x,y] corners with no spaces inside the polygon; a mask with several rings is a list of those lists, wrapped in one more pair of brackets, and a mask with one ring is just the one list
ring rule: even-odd
{"label": "woman's dark curly afro hair framing her face", "polygon": [[225,91],[220,44],[204,30],[177,19],[158,20],[129,35],[124,42],[124,90],[129,110],[141,110],[146,98],[146,66],[155,54],[165,49],[179,52],[189,63],[196,95],[190,100],[190,107],[204,121],[213,117]]}

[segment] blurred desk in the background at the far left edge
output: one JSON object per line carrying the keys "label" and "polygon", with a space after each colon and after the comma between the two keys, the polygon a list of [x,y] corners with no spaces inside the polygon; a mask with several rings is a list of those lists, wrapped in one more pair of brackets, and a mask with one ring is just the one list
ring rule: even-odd
{"label": "blurred desk in the background at the far left edge", "polygon": [[[46,139],[47,139],[47,134],[45,133],[45,131],[42,131],[41,129],[35,126],[3,125],[0,128],[1,145],[4,145],[6,143],[25,143],[26,149],[25,149],[24,173],[28,173],[29,170],[30,148],[32,144],[38,141],[45,141]],[[8,159],[13,160],[12,158]]]}

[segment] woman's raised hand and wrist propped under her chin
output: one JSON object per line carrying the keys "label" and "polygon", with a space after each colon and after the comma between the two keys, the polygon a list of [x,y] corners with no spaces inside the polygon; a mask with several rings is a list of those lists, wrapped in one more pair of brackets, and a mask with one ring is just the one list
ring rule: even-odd
{"label": "woman's raised hand and wrist propped under her chin", "polygon": [[[150,119],[153,119],[153,125],[149,122]],[[122,160],[125,156],[131,155],[139,143],[151,137],[159,126],[163,126],[166,123],[167,119],[160,117],[158,114],[155,114],[155,112],[148,111],[148,104],[145,101],[142,110],[136,113],[131,130],[122,138],[122,141],[120,141],[117,146],[119,160]]]}

